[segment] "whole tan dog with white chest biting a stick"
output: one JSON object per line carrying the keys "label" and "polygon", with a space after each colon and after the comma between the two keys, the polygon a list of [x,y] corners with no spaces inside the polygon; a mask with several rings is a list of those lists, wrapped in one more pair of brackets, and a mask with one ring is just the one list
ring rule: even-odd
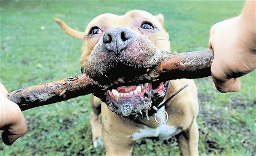
{"label": "whole tan dog with white chest biting a stick", "polygon": [[[56,22],[67,34],[84,40],[82,72],[100,82],[108,83],[120,76],[135,75],[141,67],[154,62],[155,55],[161,55],[150,51],[152,48],[170,51],[162,14],[154,16],[137,10],[121,16],[102,14],[87,25],[84,33],[68,27],[59,19]],[[121,86],[105,93],[105,103],[92,96],[90,123],[93,145],[104,143],[106,155],[131,155],[137,139],[169,139],[175,136],[182,155],[198,155],[196,86],[193,80],[186,79],[171,80],[168,90],[165,84]],[[189,86],[161,108],[168,112],[168,121],[157,124],[150,113],[152,106],[159,105],[163,98],[165,101],[185,84]],[[165,116],[157,112],[157,120],[163,122]]]}

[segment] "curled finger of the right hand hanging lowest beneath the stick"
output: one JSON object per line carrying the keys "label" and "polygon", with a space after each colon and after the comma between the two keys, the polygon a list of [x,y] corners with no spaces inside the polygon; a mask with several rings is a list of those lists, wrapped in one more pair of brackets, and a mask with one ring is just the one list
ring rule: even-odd
{"label": "curled finger of the right hand hanging lowest beneath the stick", "polygon": [[240,82],[237,78],[219,80],[212,76],[216,89],[219,92],[237,92],[240,90]]}

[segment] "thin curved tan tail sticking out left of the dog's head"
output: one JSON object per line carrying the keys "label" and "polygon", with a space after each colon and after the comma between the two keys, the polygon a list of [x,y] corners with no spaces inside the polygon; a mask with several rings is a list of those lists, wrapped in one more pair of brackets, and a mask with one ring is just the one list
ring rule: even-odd
{"label": "thin curved tan tail sticking out left of the dog's head", "polygon": [[83,39],[83,32],[68,27],[68,25],[65,22],[58,18],[55,18],[55,21],[58,25],[60,25],[63,32],[67,33],[68,35],[71,35],[74,38]]}

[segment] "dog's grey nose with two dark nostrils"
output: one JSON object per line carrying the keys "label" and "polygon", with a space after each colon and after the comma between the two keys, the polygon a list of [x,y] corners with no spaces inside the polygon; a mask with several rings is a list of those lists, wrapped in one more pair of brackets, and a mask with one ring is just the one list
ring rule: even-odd
{"label": "dog's grey nose with two dark nostrils", "polygon": [[129,39],[133,38],[134,34],[126,28],[112,28],[103,35],[103,43],[107,50],[115,53],[120,53],[127,46]]}

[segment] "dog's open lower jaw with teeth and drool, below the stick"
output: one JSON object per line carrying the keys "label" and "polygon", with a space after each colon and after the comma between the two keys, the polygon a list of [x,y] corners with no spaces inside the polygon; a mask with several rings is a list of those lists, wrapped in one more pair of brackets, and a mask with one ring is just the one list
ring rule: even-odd
{"label": "dog's open lower jaw with teeth and drool, below the stick", "polygon": [[166,84],[153,82],[108,90],[106,104],[111,111],[121,116],[148,116],[148,110],[163,101]]}

